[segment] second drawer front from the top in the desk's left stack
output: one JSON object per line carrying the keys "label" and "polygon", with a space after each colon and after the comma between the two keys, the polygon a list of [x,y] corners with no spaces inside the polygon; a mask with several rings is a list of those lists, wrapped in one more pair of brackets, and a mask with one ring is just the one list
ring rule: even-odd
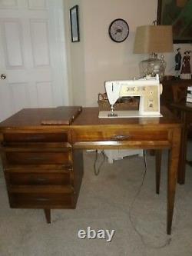
{"label": "second drawer front from the top in the desk's left stack", "polygon": [[71,151],[65,152],[6,152],[8,165],[70,165]]}

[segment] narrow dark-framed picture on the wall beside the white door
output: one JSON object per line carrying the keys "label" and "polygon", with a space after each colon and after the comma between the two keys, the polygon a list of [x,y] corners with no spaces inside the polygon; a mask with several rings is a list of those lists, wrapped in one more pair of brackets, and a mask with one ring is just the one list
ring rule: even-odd
{"label": "narrow dark-framed picture on the wall beside the white door", "polygon": [[71,42],[79,42],[78,5],[70,9]]}

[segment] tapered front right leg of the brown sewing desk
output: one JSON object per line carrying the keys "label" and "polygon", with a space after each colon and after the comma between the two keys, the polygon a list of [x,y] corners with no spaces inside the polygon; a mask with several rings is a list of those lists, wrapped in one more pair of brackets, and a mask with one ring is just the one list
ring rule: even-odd
{"label": "tapered front right leg of the brown sewing desk", "polygon": [[177,184],[177,169],[180,155],[180,128],[174,129],[168,158],[167,179],[167,234],[171,233],[174,214],[174,197]]}

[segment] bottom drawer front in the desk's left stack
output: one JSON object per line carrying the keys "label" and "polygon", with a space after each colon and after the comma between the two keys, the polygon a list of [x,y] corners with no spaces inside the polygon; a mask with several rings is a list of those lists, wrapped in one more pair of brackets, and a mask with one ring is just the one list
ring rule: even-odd
{"label": "bottom drawer front in the desk's left stack", "polygon": [[28,194],[10,193],[12,208],[74,208],[74,193],[68,194]]}

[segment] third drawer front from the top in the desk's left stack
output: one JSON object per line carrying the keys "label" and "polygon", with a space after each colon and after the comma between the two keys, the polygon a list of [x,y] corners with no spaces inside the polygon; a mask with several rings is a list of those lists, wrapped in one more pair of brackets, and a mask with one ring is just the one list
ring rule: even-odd
{"label": "third drawer front from the top in the desk's left stack", "polygon": [[72,173],[9,173],[6,174],[10,185],[72,185]]}

